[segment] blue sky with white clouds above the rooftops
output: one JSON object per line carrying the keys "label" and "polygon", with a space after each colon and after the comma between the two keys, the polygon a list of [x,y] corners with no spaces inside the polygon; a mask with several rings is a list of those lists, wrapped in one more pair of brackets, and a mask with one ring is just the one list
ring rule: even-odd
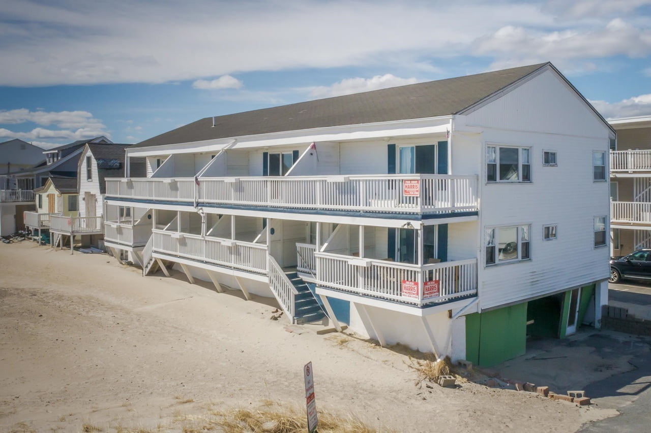
{"label": "blue sky with white clouds above the rooftops", "polygon": [[651,115],[651,0],[3,0],[0,141],[139,142],[207,116],[551,61]]}

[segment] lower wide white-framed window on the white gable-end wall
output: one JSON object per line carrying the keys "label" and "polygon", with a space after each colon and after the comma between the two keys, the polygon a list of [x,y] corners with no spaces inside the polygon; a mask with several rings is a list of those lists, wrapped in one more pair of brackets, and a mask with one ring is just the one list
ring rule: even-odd
{"label": "lower wide white-framed window on the white gable-end wall", "polygon": [[486,228],[486,265],[531,258],[531,226]]}

